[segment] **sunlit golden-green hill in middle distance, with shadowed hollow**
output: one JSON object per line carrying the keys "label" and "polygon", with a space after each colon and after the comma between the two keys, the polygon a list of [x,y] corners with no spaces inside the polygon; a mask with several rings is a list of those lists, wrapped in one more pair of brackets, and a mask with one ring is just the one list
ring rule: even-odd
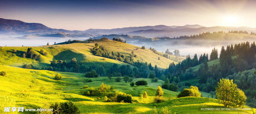
{"label": "sunlit golden-green hill in middle distance, with shadowed hollow", "polygon": [[[76,58],[78,63],[83,63],[87,66],[98,67],[100,65],[104,65],[107,72],[114,63],[117,63],[119,67],[126,64],[118,60],[108,58],[106,58],[106,60],[103,60],[103,57],[95,56],[91,51],[95,43],[98,43],[100,46],[103,46],[104,49],[110,52],[120,52],[121,54],[124,54],[126,56],[130,56],[131,52],[134,50],[134,54],[137,55],[137,57],[134,58],[135,61],[140,60],[143,62],[148,62],[152,65],[157,65],[157,67],[159,68],[167,68],[172,62],[178,63],[175,60],[170,60],[158,54],[155,54],[149,49],[142,50],[140,47],[134,45],[121,43],[113,40],[88,40],[65,45],[33,47],[33,50],[35,50],[38,55],[40,54],[40,49],[43,49],[45,52],[49,53],[47,56],[42,55],[42,58],[44,60],[42,62],[38,62],[35,59],[22,58],[23,52],[27,51],[27,48],[29,47],[3,47],[0,48],[0,64],[21,67],[23,64],[28,63],[41,68],[42,66],[50,66],[50,62],[52,60],[66,60],[67,62],[69,62],[72,58]],[[139,50],[136,50],[136,48],[138,48]],[[17,52],[13,53],[13,50],[17,50]],[[172,56],[173,58],[175,57],[174,55],[169,56]],[[160,60],[158,60],[158,57],[160,58]]]}

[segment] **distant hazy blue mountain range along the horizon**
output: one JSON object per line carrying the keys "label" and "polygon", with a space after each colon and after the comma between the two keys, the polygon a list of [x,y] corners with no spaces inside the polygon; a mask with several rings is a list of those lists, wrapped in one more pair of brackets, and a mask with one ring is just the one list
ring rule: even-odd
{"label": "distant hazy blue mountain range along the horizon", "polygon": [[93,33],[102,34],[127,34],[132,36],[145,36],[145,37],[179,37],[179,36],[190,36],[199,35],[203,32],[228,32],[228,31],[247,31],[256,32],[256,28],[250,27],[232,27],[232,26],[215,26],[205,27],[198,24],[195,25],[184,25],[184,26],[139,26],[139,27],[124,27],[116,29],[88,29],[84,31],[69,31],[64,29],[52,29],[40,23],[26,23],[19,20],[3,19],[0,18],[0,34],[13,33],[13,34],[47,34],[54,32],[65,32],[65,33]]}

